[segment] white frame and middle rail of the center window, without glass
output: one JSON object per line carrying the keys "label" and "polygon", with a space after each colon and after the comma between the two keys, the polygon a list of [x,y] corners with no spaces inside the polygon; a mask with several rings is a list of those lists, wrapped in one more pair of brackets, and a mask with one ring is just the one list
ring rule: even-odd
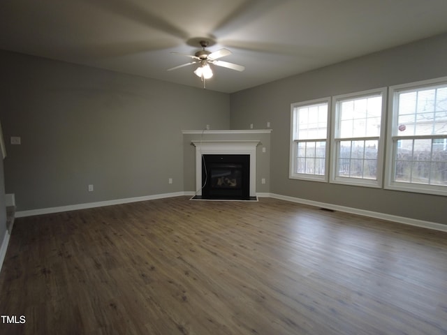
{"label": "white frame and middle rail of the center window, without glass", "polygon": [[[349,94],[340,94],[332,96],[332,108],[330,114],[332,115],[332,123],[330,127],[330,183],[332,184],[344,184],[351,186],[365,186],[372,188],[383,187],[383,163],[384,163],[384,149],[386,142],[386,106],[387,106],[387,87],[380,87],[377,89],[368,89],[365,91],[358,91]],[[363,98],[368,96],[381,96],[381,127],[379,136],[362,136],[362,137],[339,137],[339,103],[343,101],[355,100],[357,98]],[[343,177],[337,175],[338,170],[338,152],[339,143],[343,140],[378,140],[377,145],[377,166],[376,166],[376,179],[356,178],[356,177]]]}

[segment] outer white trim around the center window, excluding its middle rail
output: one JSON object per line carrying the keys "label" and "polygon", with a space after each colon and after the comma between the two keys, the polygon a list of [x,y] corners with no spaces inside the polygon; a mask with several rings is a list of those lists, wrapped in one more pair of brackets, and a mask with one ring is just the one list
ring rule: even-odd
{"label": "outer white trim around the center window, excluding its middle rail", "polygon": [[[377,179],[360,179],[353,177],[337,177],[337,141],[335,135],[337,134],[335,127],[337,126],[337,119],[339,110],[337,109],[337,102],[349,98],[361,98],[363,96],[372,96],[380,94],[382,96],[382,114],[379,146],[377,151]],[[384,143],[385,143],[385,128],[386,128],[386,105],[387,105],[387,88],[381,87],[379,89],[368,89],[366,91],[359,91],[350,94],[341,94],[332,97],[332,108],[330,114],[332,115],[332,123],[330,126],[330,183],[344,184],[353,186],[365,186],[372,188],[382,188],[383,186],[383,158],[384,158]]]}

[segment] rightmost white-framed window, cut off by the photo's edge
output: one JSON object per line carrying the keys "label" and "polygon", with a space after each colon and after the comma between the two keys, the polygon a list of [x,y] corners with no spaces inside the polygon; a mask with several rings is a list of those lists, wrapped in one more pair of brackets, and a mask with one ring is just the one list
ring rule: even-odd
{"label": "rightmost white-framed window, cut off by the photo's edge", "polygon": [[447,77],[390,87],[386,188],[447,195]]}

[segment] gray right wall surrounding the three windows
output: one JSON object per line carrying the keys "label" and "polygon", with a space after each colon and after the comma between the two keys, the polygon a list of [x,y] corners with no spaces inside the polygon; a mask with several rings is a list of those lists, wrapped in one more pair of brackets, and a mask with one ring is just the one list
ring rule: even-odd
{"label": "gray right wall surrounding the three windows", "polygon": [[446,76],[446,54],[447,34],[237,92],[231,128],[271,122],[272,193],[447,223],[443,196],[288,179],[291,103]]}

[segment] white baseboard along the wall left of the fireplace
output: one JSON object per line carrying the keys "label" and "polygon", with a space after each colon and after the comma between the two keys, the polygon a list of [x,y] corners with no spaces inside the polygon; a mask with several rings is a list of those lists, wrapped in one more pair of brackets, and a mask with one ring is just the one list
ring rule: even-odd
{"label": "white baseboard along the wall left of the fireplace", "polygon": [[111,206],[112,204],[128,204],[129,202],[156,200],[156,199],[163,199],[163,198],[173,198],[173,197],[179,197],[181,195],[186,195],[186,194],[185,194],[185,192],[163,193],[163,194],[156,194],[156,195],[145,195],[143,197],[135,197],[135,198],[124,198],[124,199],[99,201],[99,202],[87,202],[85,204],[70,204],[68,206],[60,206],[60,207],[30,209],[28,211],[16,211],[15,217],[23,218],[25,216],[60,213],[61,211],[76,211],[78,209],[88,209],[88,208],[94,208],[94,207]]}

